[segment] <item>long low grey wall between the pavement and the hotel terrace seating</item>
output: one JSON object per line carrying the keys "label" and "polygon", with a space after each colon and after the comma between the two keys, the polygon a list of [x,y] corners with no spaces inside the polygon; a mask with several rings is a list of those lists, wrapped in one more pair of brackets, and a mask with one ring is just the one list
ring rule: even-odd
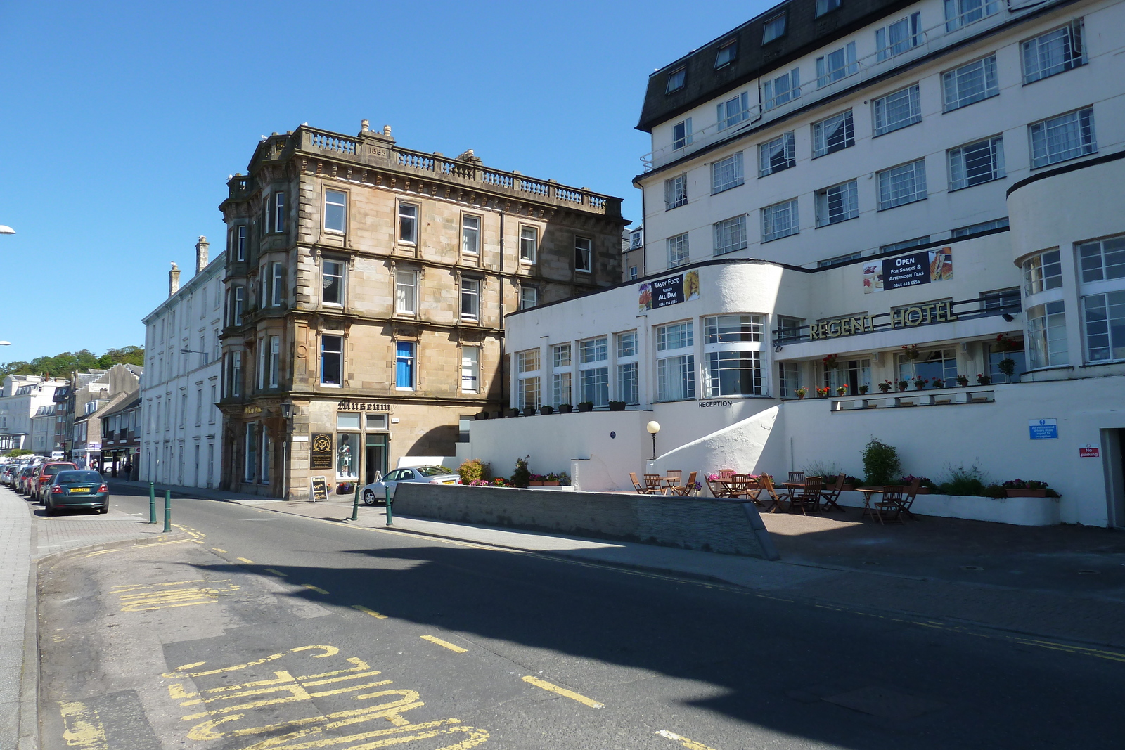
{"label": "long low grey wall between the pavement and the hotel terrace seating", "polygon": [[753,503],[403,482],[407,516],[780,559]]}

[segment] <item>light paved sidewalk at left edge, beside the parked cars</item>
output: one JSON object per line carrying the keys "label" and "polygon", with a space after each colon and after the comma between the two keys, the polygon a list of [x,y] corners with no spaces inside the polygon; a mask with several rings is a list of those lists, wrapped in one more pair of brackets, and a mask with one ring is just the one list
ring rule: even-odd
{"label": "light paved sidewalk at left edge, beside the parked cars", "polygon": [[38,561],[78,548],[156,541],[162,526],[146,521],[116,510],[47,517],[0,487],[0,749],[38,747]]}

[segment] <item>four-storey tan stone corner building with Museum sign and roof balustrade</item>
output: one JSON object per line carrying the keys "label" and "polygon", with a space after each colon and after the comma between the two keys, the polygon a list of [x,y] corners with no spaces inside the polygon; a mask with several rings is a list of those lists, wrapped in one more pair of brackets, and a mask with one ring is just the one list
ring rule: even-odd
{"label": "four-storey tan stone corner building with Museum sign and roof balustrade", "polygon": [[621,275],[618,198],[302,126],[228,182],[223,479],[305,499],[454,454],[507,400],[504,315]]}

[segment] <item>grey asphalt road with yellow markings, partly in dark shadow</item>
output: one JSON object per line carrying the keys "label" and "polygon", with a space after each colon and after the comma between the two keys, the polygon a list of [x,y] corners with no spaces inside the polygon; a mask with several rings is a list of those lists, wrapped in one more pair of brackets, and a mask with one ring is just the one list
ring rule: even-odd
{"label": "grey asphalt road with yellow markings, partly in dark shadow", "polygon": [[40,573],[43,748],[1122,747],[1112,652],[210,500],[173,522]]}

